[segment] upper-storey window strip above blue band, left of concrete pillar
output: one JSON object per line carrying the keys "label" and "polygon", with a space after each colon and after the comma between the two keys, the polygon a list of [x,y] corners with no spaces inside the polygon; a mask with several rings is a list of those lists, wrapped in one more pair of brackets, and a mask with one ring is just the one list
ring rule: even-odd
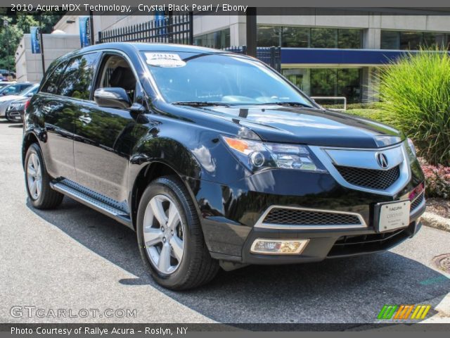
{"label": "upper-storey window strip above blue band, left of concrete pillar", "polygon": [[257,45],[292,48],[363,48],[364,30],[295,26],[257,27]]}

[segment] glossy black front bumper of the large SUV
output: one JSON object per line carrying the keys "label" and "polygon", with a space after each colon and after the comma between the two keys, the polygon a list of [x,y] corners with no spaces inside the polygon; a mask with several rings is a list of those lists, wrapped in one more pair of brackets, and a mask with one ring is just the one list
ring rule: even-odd
{"label": "glossy black front bumper of the large SUV", "polygon": [[[187,184],[198,204],[205,241],[213,258],[243,264],[287,264],[356,256],[390,249],[413,237],[421,226],[424,198],[411,211],[409,225],[393,232],[377,232],[374,212],[375,205],[380,202],[407,199],[423,183],[422,175],[413,175],[411,181],[394,196],[348,189],[335,182],[330,175],[304,174],[301,183],[298,177],[290,177],[295,175],[292,170],[274,170],[261,175],[270,177],[259,177],[258,182],[272,180],[275,184],[264,184],[266,191],[261,184],[259,192],[248,189],[257,186],[250,179],[238,187],[188,179]],[[296,181],[299,183],[295,184]],[[276,187],[278,194],[270,191],[271,187]],[[354,213],[361,216],[362,225],[258,227],[266,211],[274,205]],[[255,239],[309,239],[309,242],[299,255],[266,255],[251,252]]]}

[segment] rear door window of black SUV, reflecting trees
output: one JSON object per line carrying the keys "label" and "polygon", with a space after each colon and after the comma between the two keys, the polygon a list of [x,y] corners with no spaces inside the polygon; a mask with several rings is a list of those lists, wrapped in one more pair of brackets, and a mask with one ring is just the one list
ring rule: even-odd
{"label": "rear door window of black SUV, reflecting trees", "polygon": [[98,53],[90,53],[72,58],[68,67],[65,68],[58,94],[74,99],[89,100],[98,55]]}

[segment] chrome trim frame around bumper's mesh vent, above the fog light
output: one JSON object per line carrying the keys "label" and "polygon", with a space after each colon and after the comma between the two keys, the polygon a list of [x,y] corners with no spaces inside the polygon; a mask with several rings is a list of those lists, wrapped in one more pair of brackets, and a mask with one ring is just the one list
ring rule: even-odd
{"label": "chrome trim frame around bumper's mesh vent, above the fog light", "polygon": [[[270,213],[270,211],[274,208],[280,208],[280,209],[290,209],[290,210],[300,210],[300,211],[314,211],[316,213],[339,213],[343,215],[354,215],[360,220],[360,224],[349,224],[349,225],[329,225],[329,224],[323,224],[323,225],[286,225],[286,224],[275,224],[275,223],[264,223],[264,218],[266,218],[266,215]],[[269,208],[264,211],[264,213],[261,215],[261,217],[257,220],[257,223],[255,223],[254,227],[264,228],[264,229],[279,229],[279,230],[331,230],[331,229],[354,229],[354,228],[364,228],[367,227],[366,222],[364,221],[364,218],[359,213],[348,213],[345,211],[335,211],[335,210],[325,210],[325,209],[315,209],[315,208],[301,208],[301,207],[295,207],[295,206],[269,206]]]}

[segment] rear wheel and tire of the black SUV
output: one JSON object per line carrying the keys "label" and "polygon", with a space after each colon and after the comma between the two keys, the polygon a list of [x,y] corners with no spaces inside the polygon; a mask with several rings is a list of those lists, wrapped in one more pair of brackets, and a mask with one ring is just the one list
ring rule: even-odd
{"label": "rear wheel and tire of the black SUV", "polygon": [[25,156],[25,187],[34,208],[56,208],[63,201],[64,195],[51,189],[50,181],[41,149],[34,143],[27,149]]}

